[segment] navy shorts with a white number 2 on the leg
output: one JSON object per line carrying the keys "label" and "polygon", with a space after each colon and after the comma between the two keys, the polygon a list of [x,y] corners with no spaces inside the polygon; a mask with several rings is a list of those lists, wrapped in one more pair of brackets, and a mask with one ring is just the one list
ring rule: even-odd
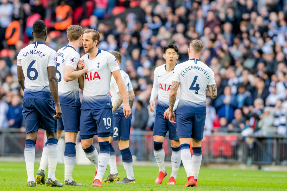
{"label": "navy shorts with a white number 2 on the leg", "polygon": [[131,132],[131,115],[126,119],[124,115],[113,115],[113,140],[129,140]]}

